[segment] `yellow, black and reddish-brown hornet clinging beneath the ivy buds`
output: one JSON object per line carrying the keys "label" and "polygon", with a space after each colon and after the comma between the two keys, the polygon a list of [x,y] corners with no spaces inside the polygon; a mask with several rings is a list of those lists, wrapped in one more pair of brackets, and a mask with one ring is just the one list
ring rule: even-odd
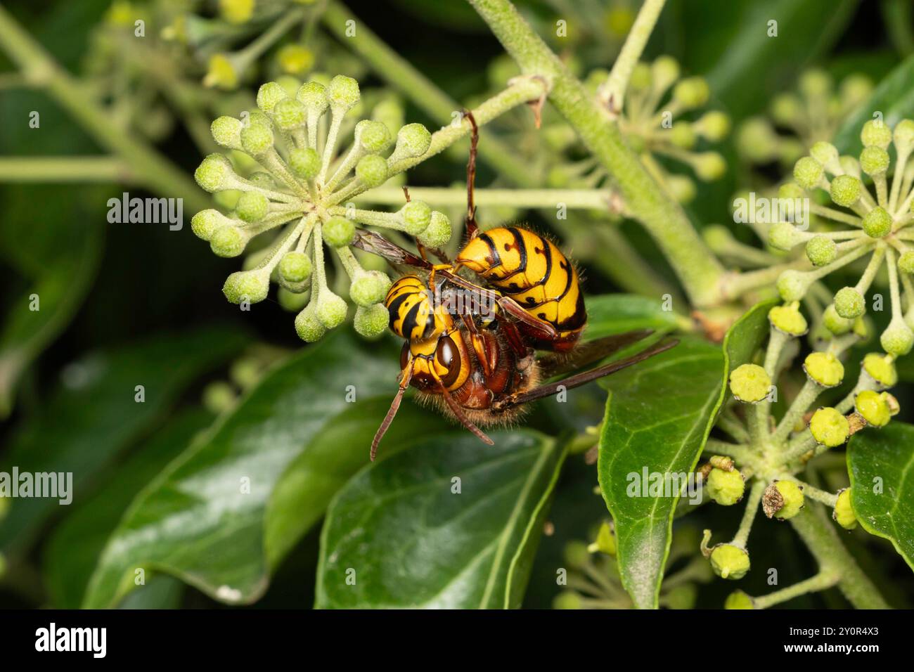
{"label": "yellow, black and reddish-brown hornet clinging beneath the ivy buds", "polygon": [[[467,165],[468,240],[454,260],[433,251],[442,262],[432,263],[421,246],[416,255],[364,229],[354,243],[428,276],[403,275],[385,298],[390,329],[404,343],[398,391],[371,444],[372,460],[410,386],[419,390],[420,400],[492,445],[481,426],[509,424],[530,401],[608,376],[677,343],[658,341],[632,357],[541,383],[609,357],[652,332],[632,331],[579,346],[587,311],[574,264],[551,240],[529,229],[480,231],[473,202],[478,131],[472,114],[465,114],[473,132]],[[481,282],[463,278],[461,268]],[[550,352],[537,358],[537,350]]]}

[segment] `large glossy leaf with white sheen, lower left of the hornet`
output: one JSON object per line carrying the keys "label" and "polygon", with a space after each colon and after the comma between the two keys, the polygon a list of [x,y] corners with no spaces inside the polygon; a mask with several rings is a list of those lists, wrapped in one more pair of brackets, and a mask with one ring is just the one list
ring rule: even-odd
{"label": "large glossy leaf with white sheen, lower left of the hornet", "polygon": [[[102,553],[84,606],[118,603],[139,567],[172,574],[223,602],[257,600],[269,583],[268,555],[274,563],[282,555],[266,549],[265,514],[277,482],[341,413],[372,397],[389,400],[397,371],[392,349],[361,343],[345,330],[272,369],[137,496]],[[340,451],[361,453],[367,462],[370,441],[362,432],[335,437]],[[324,443],[315,452],[329,448]],[[315,479],[342,479],[336,466]],[[322,506],[300,514],[314,519]],[[288,523],[282,529],[302,531]],[[277,541],[275,531],[271,539],[281,550],[293,543]]]}

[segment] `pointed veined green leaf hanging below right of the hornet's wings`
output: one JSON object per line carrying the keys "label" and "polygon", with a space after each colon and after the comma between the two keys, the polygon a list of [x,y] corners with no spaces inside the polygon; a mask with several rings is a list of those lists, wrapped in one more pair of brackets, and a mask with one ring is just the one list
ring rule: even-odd
{"label": "pointed veined green leaf hanging below right of the hornet's wings", "polygon": [[[600,490],[615,522],[622,585],[639,608],[657,606],[679,496],[642,496],[643,475],[687,475],[695,469],[725,398],[729,370],[758,349],[774,303],[756,305],[731,326],[723,352],[685,337],[673,349],[606,379]],[[630,485],[638,485],[634,496]]]}

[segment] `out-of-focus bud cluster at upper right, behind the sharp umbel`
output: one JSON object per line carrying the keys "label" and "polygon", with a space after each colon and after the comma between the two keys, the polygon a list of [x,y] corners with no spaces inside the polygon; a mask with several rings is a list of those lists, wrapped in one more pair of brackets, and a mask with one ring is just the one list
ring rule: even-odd
{"label": "out-of-focus bud cluster at upper right, behind the sharp umbel", "polygon": [[[831,76],[822,70],[804,72],[798,90],[782,93],[771,101],[768,116],[750,117],[739,125],[736,144],[740,158],[751,165],[779,163],[792,165],[806,151],[820,164],[837,159],[831,149],[816,144],[834,136],[847,115],[873,89],[864,75],[848,75],[834,86]],[[827,154],[826,154],[827,153]],[[814,176],[814,169],[806,165]]]}

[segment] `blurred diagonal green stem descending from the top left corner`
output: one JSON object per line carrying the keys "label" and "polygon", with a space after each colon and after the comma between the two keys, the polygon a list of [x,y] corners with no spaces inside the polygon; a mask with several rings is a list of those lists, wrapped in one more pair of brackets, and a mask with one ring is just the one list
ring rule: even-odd
{"label": "blurred diagonal green stem descending from the top left corner", "polygon": [[0,6],[0,45],[24,77],[40,84],[95,140],[130,165],[145,187],[170,197],[182,197],[190,208],[202,210],[209,197],[184,172],[148,144],[123,133],[110,115],[45,49]]}

